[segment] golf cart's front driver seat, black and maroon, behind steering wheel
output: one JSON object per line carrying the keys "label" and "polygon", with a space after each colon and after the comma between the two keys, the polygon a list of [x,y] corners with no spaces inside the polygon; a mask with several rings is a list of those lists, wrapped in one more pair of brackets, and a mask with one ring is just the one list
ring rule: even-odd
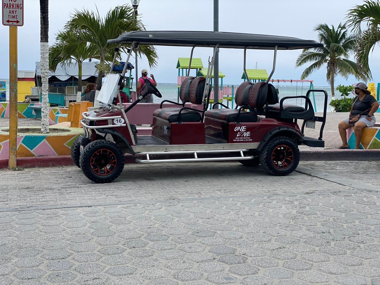
{"label": "golf cart's front driver seat, black and maroon, behind steering wheel", "polygon": [[[161,102],[161,108],[153,113],[153,117],[166,120],[169,123],[173,122],[200,122],[202,116],[194,109],[185,107],[185,103],[192,103],[196,105],[203,105],[203,91],[206,84],[204,77],[188,76],[184,79],[179,89],[179,96],[182,103],[177,103],[169,100]],[[164,102],[173,103],[182,106],[182,108],[162,108]]]}

